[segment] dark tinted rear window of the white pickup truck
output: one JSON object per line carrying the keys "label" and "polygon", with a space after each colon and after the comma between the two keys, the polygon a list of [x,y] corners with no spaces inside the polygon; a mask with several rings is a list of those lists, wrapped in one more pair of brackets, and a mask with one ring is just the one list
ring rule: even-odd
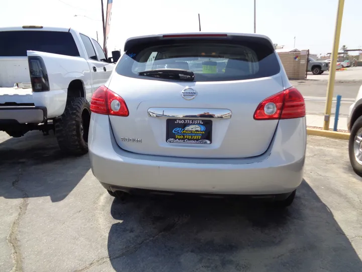
{"label": "dark tinted rear window of the white pickup truck", "polygon": [[3,31],[0,41],[0,56],[26,56],[27,50],[79,56],[69,32]]}

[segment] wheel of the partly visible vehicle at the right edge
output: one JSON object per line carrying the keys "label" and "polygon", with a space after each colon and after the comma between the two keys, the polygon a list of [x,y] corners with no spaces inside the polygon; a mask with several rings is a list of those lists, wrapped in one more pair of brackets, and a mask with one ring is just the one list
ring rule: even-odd
{"label": "wheel of the partly visible vehicle at the right edge", "polygon": [[362,116],[358,117],[350,131],[348,154],[353,171],[362,176]]}

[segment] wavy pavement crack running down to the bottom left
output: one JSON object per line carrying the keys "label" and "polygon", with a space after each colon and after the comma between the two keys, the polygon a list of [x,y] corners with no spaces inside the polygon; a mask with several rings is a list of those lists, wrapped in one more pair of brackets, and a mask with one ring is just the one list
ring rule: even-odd
{"label": "wavy pavement crack running down to the bottom left", "polygon": [[22,193],[22,201],[19,205],[19,213],[10,228],[10,233],[7,238],[9,247],[12,249],[12,259],[14,262],[12,271],[23,271],[23,256],[20,251],[18,234],[19,234],[20,221],[28,209],[29,196],[27,192],[18,185],[22,175],[23,175],[23,169],[22,167],[20,167],[19,173],[12,183],[13,188]]}

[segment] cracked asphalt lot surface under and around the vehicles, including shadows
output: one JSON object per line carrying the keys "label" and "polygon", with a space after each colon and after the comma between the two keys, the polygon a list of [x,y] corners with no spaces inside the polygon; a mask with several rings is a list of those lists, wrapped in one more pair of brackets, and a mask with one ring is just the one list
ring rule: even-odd
{"label": "cracked asphalt lot surface under and around the vehicles, including shadows", "polygon": [[87,155],[63,157],[52,135],[0,132],[0,211],[2,271],[362,271],[362,179],[341,140],[308,137],[296,200],[275,210],[229,198],[122,203]]}

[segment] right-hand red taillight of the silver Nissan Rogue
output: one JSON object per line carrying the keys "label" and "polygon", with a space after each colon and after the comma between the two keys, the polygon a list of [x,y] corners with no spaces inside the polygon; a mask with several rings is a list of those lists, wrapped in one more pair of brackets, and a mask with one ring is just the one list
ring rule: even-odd
{"label": "right-hand red taillight of the silver Nissan Rogue", "polygon": [[304,116],[304,98],[295,87],[261,101],[254,112],[255,120],[291,119]]}

